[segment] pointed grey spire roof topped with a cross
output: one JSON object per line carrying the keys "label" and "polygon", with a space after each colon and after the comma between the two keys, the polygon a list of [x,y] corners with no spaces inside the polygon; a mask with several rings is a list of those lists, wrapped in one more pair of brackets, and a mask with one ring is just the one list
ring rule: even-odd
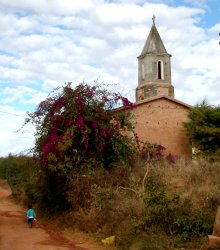
{"label": "pointed grey spire roof topped with a cross", "polygon": [[167,54],[167,51],[164,47],[162,39],[161,39],[159,32],[157,31],[156,25],[155,25],[155,16],[153,16],[152,20],[153,20],[153,25],[151,27],[147,41],[144,45],[144,48],[143,48],[140,56],[144,56],[145,54],[148,54],[148,53]]}

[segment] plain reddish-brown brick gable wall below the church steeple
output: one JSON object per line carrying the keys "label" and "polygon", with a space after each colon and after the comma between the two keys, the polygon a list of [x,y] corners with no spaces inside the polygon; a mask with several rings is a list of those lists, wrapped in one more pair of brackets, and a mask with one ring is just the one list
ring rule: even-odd
{"label": "plain reddish-brown brick gable wall below the church steeple", "polygon": [[183,127],[188,110],[166,98],[145,101],[133,109],[135,130],[141,140],[163,145],[166,153],[189,156],[191,147]]}

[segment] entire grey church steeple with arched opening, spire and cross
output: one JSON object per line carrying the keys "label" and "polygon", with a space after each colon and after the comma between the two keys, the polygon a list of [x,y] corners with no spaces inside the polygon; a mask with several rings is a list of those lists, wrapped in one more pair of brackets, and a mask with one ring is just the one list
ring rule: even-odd
{"label": "entire grey church steeple with arched opening, spire and cross", "polygon": [[174,88],[171,84],[171,55],[167,53],[157,31],[155,16],[152,20],[150,33],[140,56],[138,56],[136,101],[158,95],[174,98]]}

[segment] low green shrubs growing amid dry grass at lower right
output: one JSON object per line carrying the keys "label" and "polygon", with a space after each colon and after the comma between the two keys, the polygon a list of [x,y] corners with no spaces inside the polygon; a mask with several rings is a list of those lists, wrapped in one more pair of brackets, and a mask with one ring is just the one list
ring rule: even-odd
{"label": "low green shrubs growing amid dry grass at lower right", "polygon": [[169,195],[166,187],[149,179],[146,183],[145,210],[139,224],[145,231],[160,228],[167,235],[178,235],[189,241],[210,234],[213,219],[207,211],[193,209],[191,201],[179,195]]}

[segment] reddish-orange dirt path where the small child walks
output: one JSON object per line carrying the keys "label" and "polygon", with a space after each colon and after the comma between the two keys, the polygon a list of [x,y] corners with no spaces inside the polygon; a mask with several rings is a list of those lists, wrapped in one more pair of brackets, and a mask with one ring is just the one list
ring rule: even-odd
{"label": "reddish-orange dirt path where the small child walks", "polygon": [[26,211],[17,205],[7,183],[0,180],[0,250],[103,250],[82,235],[67,237],[53,225],[26,223]]}

